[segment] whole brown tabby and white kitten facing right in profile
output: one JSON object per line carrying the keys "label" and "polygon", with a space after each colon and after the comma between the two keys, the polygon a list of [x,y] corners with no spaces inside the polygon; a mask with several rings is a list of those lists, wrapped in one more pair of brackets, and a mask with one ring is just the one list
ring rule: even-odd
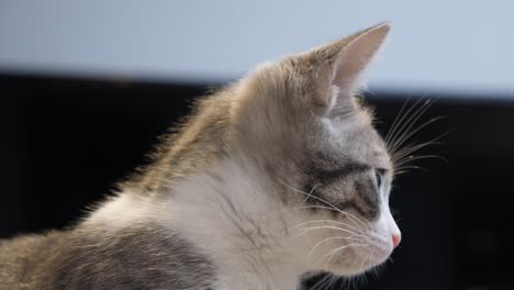
{"label": "whole brown tabby and white kitten facing right in profile", "polygon": [[298,289],[400,243],[393,167],[355,97],[389,24],[199,101],[153,165],[68,230],[0,242],[0,289]]}

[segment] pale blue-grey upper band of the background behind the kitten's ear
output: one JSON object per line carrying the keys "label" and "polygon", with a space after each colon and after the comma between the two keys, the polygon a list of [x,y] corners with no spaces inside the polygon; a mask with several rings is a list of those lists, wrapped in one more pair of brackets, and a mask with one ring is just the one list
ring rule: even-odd
{"label": "pale blue-grey upper band of the background behind the kitten's ear", "polygon": [[227,81],[390,20],[379,90],[514,94],[514,1],[0,0],[0,70]]}

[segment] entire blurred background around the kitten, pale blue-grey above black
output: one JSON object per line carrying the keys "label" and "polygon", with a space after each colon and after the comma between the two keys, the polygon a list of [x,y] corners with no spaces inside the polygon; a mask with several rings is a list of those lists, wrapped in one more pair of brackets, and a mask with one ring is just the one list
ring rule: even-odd
{"label": "entire blurred background around the kitten, pale blue-grey above black", "polygon": [[[514,2],[0,1],[0,237],[64,227],[194,97],[265,60],[390,20],[367,102],[386,134],[436,100],[413,138],[443,144],[401,175],[402,245],[378,276],[333,289],[514,289]],[[314,285],[315,278],[306,281]]]}

